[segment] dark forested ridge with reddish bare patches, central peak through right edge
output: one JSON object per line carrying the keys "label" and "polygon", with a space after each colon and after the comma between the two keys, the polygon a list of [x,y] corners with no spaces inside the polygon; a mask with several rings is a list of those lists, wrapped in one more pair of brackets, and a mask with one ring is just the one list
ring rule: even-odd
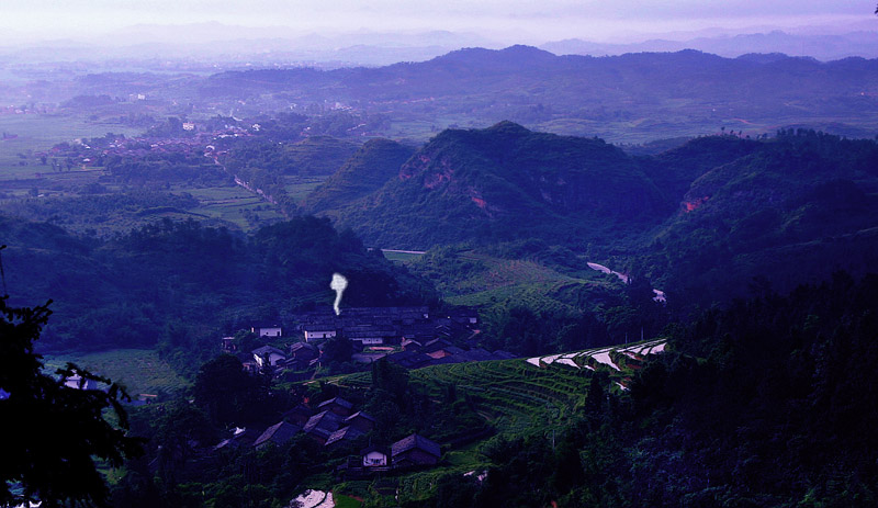
{"label": "dark forested ridge with reddish bare patches, central peak through right edge", "polygon": [[[875,270],[876,168],[875,140],[806,129],[708,136],[631,157],[600,139],[502,122],[440,133],[333,215],[383,248],[536,239],[570,249],[560,261],[569,267],[588,251],[655,287],[724,300],[754,276],[791,289],[837,269]],[[333,189],[346,176],[335,179],[322,200],[342,195]]]}

